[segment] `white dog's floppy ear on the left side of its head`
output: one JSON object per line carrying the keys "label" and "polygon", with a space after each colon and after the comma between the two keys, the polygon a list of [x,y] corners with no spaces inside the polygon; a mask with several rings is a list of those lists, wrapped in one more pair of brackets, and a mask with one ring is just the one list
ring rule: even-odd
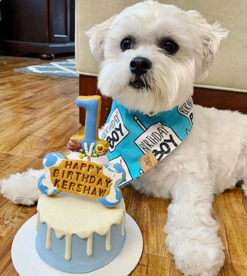
{"label": "white dog's floppy ear on the left side of its head", "polygon": [[85,34],[90,37],[89,46],[93,56],[100,62],[104,58],[104,41],[105,34],[109,30],[112,21],[117,15],[110,17],[103,23],[96,24]]}

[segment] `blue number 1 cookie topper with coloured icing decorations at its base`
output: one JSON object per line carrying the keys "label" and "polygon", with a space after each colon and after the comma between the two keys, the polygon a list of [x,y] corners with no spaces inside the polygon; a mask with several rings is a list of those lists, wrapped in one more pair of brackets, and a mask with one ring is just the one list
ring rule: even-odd
{"label": "blue number 1 cookie topper with coloured icing decorations at its base", "polygon": [[100,157],[107,153],[109,143],[106,140],[99,139],[100,122],[100,96],[79,96],[76,100],[78,107],[86,108],[86,121],[84,135],[73,135],[68,143],[68,148],[79,152],[79,157]]}

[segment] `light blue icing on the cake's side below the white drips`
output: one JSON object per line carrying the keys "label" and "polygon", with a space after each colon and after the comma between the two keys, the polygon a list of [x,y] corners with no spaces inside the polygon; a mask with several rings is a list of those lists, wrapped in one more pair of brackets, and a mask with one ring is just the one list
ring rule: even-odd
{"label": "light blue icing on the cake's side below the white drips", "polygon": [[39,231],[35,239],[35,247],[38,255],[52,267],[71,273],[85,273],[108,264],[119,255],[126,238],[125,230],[124,235],[121,236],[121,223],[119,225],[112,225],[110,236],[111,250],[107,251],[105,249],[105,235],[100,236],[94,233],[92,255],[88,256],[86,254],[87,239],[81,239],[74,234],[72,236],[71,259],[66,260],[64,258],[65,236],[58,239],[55,231],[52,229],[51,248],[46,249],[46,235],[47,224],[45,222],[43,224],[39,222]]}

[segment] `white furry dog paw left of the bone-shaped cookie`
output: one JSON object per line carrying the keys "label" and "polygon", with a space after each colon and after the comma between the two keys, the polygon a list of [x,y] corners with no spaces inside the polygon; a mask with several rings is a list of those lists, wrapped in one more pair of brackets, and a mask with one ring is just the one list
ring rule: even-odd
{"label": "white furry dog paw left of the bone-shaped cookie", "polygon": [[38,179],[44,170],[28,169],[0,180],[0,192],[16,204],[33,205],[41,196]]}

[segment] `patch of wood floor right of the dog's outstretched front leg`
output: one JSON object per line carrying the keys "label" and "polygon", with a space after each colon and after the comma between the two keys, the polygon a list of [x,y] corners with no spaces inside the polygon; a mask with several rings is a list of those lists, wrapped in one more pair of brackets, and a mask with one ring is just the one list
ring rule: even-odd
{"label": "patch of wood floor right of the dog's outstretched front leg", "polygon": [[220,276],[242,276],[247,273],[247,218],[241,188],[215,197],[213,217],[219,223],[219,236],[225,246],[225,264]]}

